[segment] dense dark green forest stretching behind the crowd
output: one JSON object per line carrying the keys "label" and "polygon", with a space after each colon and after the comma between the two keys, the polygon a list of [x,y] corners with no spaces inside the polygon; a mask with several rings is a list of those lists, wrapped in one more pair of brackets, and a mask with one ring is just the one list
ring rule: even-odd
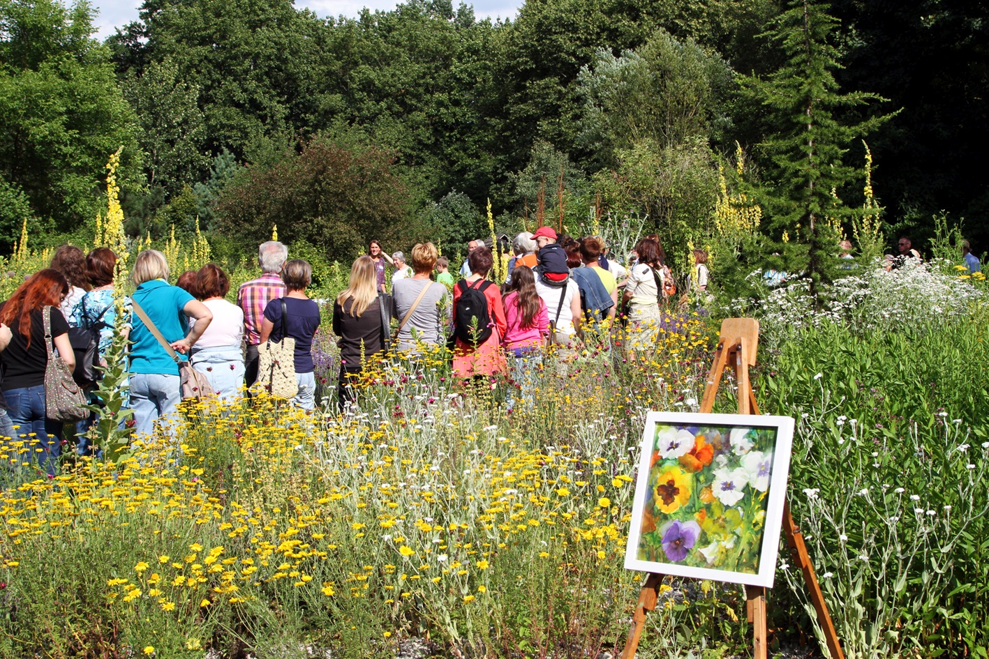
{"label": "dense dark green forest stretching behind the crowd", "polygon": [[[832,199],[882,206],[886,238],[922,246],[946,212],[981,253],[987,13],[974,0],[528,0],[502,23],[449,0],[356,19],[290,0],[146,0],[101,43],[85,2],[0,0],[0,251],[25,218],[36,245],[84,244],[123,147],[128,232],[157,239],[198,217],[221,252],[275,222],[329,259],[371,237],[452,251],[490,234],[489,200],[499,231],[579,232],[610,212],[703,239],[719,198],[748,193],[767,245],[810,235],[794,205],[851,236],[854,217],[820,207]],[[797,97],[806,108],[787,105]],[[807,132],[820,107],[823,132]],[[833,146],[813,171],[793,165],[808,142]],[[811,180],[828,199],[800,197]]]}

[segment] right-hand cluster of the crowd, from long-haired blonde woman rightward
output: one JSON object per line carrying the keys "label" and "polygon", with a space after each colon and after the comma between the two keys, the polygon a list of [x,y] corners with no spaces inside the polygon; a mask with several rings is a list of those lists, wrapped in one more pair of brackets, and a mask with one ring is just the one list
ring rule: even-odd
{"label": "right-hand cluster of the crowd, from long-haired blonde woman rightward", "polygon": [[[408,268],[402,252],[389,256],[380,242],[371,241],[335,300],[343,404],[355,399],[355,380],[379,353],[394,350],[414,359],[444,342],[452,352],[455,377],[510,374],[516,390],[509,394],[509,409],[518,401],[531,404],[535,375],[544,368],[548,348],[558,367],[565,366],[587,343],[610,345],[621,327],[627,354],[634,359],[637,348],[655,342],[662,308],[675,293],[656,235],[636,244],[626,269],[597,236],[576,239],[549,226],[522,232],[504,257],[500,270],[506,276],[499,282],[493,275],[497,255],[485,240],[468,244],[459,281],[432,243],[415,245],[410,256]],[[693,257],[688,286],[703,291],[707,255],[696,250]],[[393,325],[398,327],[394,332]]]}

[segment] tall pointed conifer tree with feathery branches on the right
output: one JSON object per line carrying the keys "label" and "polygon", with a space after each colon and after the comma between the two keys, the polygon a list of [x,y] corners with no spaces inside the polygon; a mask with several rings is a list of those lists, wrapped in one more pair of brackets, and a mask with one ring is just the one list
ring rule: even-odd
{"label": "tall pointed conifer tree with feathery branches on the right", "polygon": [[841,93],[834,72],[841,68],[834,44],[837,20],[826,6],[790,0],[764,38],[781,49],[785,63],[765,78],[742,78],[745,93],[759,103],[771,126],[762,147],[769,156],[759,197],[768,215],[773,250],[788,272],[802,273],[818,297],[832,279],[841,226],[860,213],[838,192],[861,174],[844,156],[856,137],[892,115],[846,121],[850,111],[884,101],[866,92]]}

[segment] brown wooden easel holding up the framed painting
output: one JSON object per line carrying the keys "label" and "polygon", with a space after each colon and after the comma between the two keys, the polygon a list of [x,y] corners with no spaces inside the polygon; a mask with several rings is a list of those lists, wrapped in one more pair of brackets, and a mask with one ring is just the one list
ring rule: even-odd
{"label": "brown wooden easel holding up the framed painting", "polygon": [[[700,402],[700,412],[711,412],[714,409],[714,398],[718,393],[721,375],[725,368],[731,365],[735,371],[735,381],[738,384],[739,414],[759,414],[756,394],[753,393],[752,382],[749,379],[749,368],[756,366],[758,350],[759,322],[756,319],[725,318],[721,322],[721,336],[718,339],[717,351],[714,353],[714,364],[707,376],[707,385],[704,387],[704,396]],[[800,529],[794,524],[793,517],[790,515],[788,501],[783,503],[783,535],[786,536],[786,544],[790,548],[791,560],[794,564],[799,565],[803,571],[804,581],[807,582],[807,589],[810,591],[810,600],[817,612],[821,628],[824,630],[831,659],[845,659],[845,653],[842,651],[842,645],[838,640],[838,633],[831,621],[831,614],[828,613],[828,606],[821,594],[821,587],[817,583],[817,575],[814,573],[814,566],[810,562],[803,535],[800,534]],[[621,659],[632,659],[635,656],[635,651],[639,647],[639,638],[642,636],[642,629],[646,623],[646,614],[656,609],[662,582],[662,574],[654,573],[646,577],[646,583],[643,584],[639,593],[639,603],[635,608],[635,615],[632,617],[633,625],[628,632],[628,639],[625,642],[625,649],[621,653]],[[765,589],[759,586],[746,586],[745,590],[746,610],[749,621],[753,623],[753,657],[754,659],[766,659],[768,633],[765,621]]]}

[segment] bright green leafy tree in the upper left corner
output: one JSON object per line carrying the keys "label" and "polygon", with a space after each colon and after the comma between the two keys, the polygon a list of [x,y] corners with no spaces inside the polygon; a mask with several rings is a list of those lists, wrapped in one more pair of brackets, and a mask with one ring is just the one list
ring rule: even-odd
{"label": "bright green leafy tree in the upper left corner", "polygon": [[139,184],[134,113],[109,51],[89,38],[88,5],[4,2],[0,25],[9,35],[0,41],[0,172],[33,214],[72,230],[96,214],[94,188],[121,145],[123,188]]}

